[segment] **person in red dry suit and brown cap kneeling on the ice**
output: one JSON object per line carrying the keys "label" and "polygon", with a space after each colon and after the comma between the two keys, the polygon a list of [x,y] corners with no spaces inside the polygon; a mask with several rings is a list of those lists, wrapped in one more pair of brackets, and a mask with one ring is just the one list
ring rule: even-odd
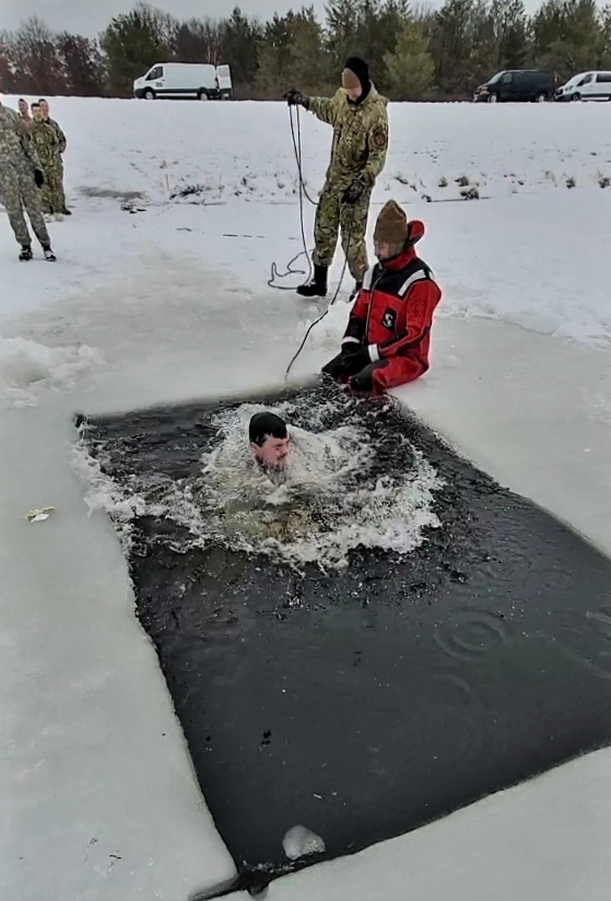
{"label": "person in red dry suit and brown cap kneeling on the ice", "polygon": [[428,370],[431,327],[442,291],[415,253],[423,235],[423,222],[409,222],[395,200],[386,203],[374,231],[378,262],[356,295],[341,352],[322,373],[355,391],[378,395]]}

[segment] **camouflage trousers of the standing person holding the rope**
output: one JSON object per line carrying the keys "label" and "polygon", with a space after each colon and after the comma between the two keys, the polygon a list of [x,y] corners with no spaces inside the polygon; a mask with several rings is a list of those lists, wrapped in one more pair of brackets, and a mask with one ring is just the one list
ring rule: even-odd
{"label": "camouflage trousers of the standing person holding the rope", "polygon": [[345,185],[327,183],[322,188],[314,224],[314,262],[330,267],[341,230],[341,244],[348,260],[350,273],[355,281],[362,281],[368,269],[365,234],[369,214],[372,191],[364,191],[356,203],[342,202]]}

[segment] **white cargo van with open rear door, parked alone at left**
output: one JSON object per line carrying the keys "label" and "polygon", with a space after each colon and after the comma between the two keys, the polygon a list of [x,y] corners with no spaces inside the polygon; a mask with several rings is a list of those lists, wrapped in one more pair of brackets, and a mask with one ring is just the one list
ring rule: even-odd
{"label": "white cargo van with open rear door, parked alone at left", "polygon": [[232,70],[228,66],[203,62],[155,62],[133,82],[133,95],[145,101],[157,97],[198,101],[226,101],[232,95]]}

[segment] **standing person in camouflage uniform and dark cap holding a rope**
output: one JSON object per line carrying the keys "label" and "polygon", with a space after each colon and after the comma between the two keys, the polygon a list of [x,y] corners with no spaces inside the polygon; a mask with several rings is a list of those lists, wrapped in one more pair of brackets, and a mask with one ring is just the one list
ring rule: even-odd
{"label": "standing person in camouflage uniform and dark cap holding a rope", "polygon": [[350,57],[342,87],[333,97],[308,97],[292,90],[290,106],[303,106],[333,127],[331,159],[316,209],[314,279],[297,292],[305,297],[327,294],[327,276],[341,229],[342,248],[355,281],[355,296],[368,269],[365,233],[376,178],[388,150],[388,100],[376,91],[367,63]]}

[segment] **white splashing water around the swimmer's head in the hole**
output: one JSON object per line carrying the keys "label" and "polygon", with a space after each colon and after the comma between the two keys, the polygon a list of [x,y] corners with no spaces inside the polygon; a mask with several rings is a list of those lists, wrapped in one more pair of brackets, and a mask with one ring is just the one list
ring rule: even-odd
{"label": "white splashing water around the swimmer's head in the hole", "polygon": [[[248,422],[263,409],[289,425],[283,470],[261,468],[249,447]],[[434,492],[443,479],[400,432],[385,435],[381,447],[348,407],[342,424],[330,425],[337,413],[337,405],[305,408],[303,401],[224,409],[212,421],[214,440],[195,476],[131,473],[131,502],[119,502],[115,485],[108,512],[120,508],[124,526],[130,508],[134,516],[175,522],[188,533],[176,536],[176,550],[222,545],[296,569],[313,562],[343,567],[359,547],[409,553],[426,528],[440,525]],[[97,488],[98,504],[99,496]]]}

